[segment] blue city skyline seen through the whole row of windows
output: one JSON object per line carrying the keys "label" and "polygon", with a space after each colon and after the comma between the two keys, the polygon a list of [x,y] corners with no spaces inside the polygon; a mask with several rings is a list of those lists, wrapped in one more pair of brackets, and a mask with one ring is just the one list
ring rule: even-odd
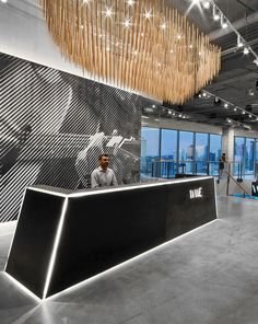
{"label": "blue city skyline seen through the whole row of windows", "polygon": [[[141,177],[175,177],[176,174],[218,175],[222,136],[175,129],[142,127]],[[235,137],[235,175],[254,175],[258,139]]]}

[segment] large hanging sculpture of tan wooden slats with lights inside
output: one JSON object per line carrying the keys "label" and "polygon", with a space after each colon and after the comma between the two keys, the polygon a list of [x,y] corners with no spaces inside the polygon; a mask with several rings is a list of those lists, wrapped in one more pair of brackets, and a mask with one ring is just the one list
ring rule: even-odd
{"label": "large hanging sculpture of tan wooden slats with lights inside", "polygon": [[221,49],[165,0],[42,0],[62,55],[94,80],[183,104],[221,68]]}

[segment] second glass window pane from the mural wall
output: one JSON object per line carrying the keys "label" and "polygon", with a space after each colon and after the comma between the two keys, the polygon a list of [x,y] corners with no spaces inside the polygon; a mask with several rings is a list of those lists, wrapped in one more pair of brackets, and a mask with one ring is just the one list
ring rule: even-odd
{"label": "second glass window pane from the mural wall", "polygon": [[177,160],[177,130],[161,130],[161,176],[174,177]]}

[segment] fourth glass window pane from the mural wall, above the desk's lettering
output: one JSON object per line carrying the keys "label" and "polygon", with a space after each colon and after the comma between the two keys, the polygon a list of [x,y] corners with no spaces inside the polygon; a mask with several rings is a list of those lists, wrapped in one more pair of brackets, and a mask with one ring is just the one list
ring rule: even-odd
{"label": "fourth glass window pane from the mural wall, above the desk's lettering", "polygon": [[196,173],[207,174],[208,172],[208,134],[196,134]]}

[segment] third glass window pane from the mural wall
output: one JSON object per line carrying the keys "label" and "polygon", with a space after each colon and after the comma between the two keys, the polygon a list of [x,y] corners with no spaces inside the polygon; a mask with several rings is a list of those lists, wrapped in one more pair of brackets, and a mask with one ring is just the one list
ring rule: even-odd
{"label": "third glass window pane from the mural wall", "polygon": [[179,131],[179,173],[192,173],[194,132]]}

